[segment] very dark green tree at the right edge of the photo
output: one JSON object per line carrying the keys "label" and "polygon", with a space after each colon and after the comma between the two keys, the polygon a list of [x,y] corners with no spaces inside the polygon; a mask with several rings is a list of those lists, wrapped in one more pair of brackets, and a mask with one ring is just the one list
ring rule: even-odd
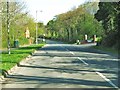
{"label": "very dark green tree at the right edge of the photo", "polygon": [[95,18],[102,22],[105,37],[102,45],[109,47],[118,46],[118,15],[120,6],[119,2],[100,2],[99,10]]}

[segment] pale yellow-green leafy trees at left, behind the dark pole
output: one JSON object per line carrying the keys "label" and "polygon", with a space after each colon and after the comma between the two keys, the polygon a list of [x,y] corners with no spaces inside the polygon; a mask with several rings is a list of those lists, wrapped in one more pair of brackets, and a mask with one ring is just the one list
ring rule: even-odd
{"label": "pale yellow-green leafy trees at left, behind the dark pole", "polygon": [[[2,47],[7,47],[7,5],[2,2]],[[25,11],[23,2],[9,2],[9,23],[10,23],[10,44],[13,46],[14,40],[19,40],[19,44],[29,44],[29,39],[25,38],[25,30],[28,27],[31,37],[35,38],[34,19]]]}

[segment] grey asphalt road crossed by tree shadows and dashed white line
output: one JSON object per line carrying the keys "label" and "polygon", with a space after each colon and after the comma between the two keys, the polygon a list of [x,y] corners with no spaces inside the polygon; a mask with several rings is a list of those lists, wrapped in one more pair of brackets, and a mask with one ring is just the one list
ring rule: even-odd
{"label": "grey asphalt road crossed by tree shadows and dashed white line", "polygon": [[47,41],[7,76],[2,88],[117,88],[118,59],[90,47]]}

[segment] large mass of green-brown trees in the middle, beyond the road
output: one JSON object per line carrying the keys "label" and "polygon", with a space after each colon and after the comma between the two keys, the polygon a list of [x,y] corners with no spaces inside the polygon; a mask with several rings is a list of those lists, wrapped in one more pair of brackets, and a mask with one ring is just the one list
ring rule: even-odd
{"label": "large mass of green-brown trees in the middle, beyond the road", "polygon": [[[95,8],[95,6],[96,8]],[[88,10],[89,7],[92,10]],[[47,30],[51,32],[52,38],[68,42],[76,42],[77,39],[83,40],[84,35],[87,34],[89,38],[93,35],[103,35],[103,28],[101,24],[94,19],[93,13],[97,11],[96,3],[86,3],[71,11],[62,13],[56,16],[47,24]]]}

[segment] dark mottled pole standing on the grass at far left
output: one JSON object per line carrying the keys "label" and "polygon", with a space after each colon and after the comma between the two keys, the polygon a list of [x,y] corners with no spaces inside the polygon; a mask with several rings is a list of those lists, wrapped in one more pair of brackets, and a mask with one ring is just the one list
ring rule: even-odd
{"label": "dark mottled pole standing on the grass at far left", "polygon": [[8,34],[8,54],[10,54],[10,22],[9,22],[9,1],[7,1],[7,34]]}

